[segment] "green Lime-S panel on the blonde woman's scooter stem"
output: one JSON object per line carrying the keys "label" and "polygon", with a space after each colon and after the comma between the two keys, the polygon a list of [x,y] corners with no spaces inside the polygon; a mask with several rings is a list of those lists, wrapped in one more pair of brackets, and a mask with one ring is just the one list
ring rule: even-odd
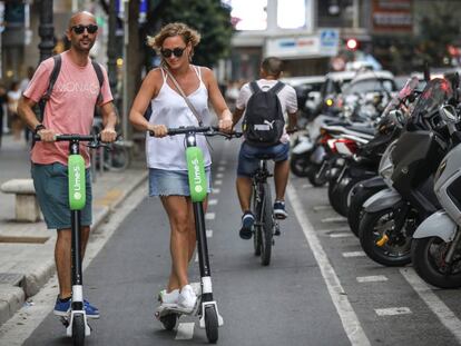
{"label": "green Lime-S panel on the blonde woman's scooter stem", "polygon": [[187,170],[189,175],[190,198],[203,201],[207,194],[207,181],[204,168],[204,155],[197,147],[186,149]]}

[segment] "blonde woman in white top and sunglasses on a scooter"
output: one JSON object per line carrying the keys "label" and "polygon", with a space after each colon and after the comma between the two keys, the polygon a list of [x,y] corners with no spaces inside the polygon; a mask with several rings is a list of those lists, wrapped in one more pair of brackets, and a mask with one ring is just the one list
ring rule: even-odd
{"label": "blonde woman in white top and sunglasses on a scooter", "polygon": [[[192,312],[197,300],[187,277],[196,233],[184,137],[167,137],[167,129],[209,125],[210,101],[219,120],[219,129],[232,130],[232,113],[213,71],[192,63],[194,49],[199,41],[198,32],[184,23],[169,23],[157,36],[148,37],[148,45],[161,57],[161,66],[146,76],[129,113],[137,129],[154,134],[154,137],[147,136],[146,139],[149,195],[159,196],[170,225],[171,273],[166,289],[160,291],[160,300],[164,305],[177,305],[185,313]],[[182,93],[197,115],[190,110]],[[151,116],[146,120],[144,113],[149,103]],[[197,146],[204,151],[209,192],[212,160],[203,136],[197,137]],[[206,209],[206,201],[204,207]]]}

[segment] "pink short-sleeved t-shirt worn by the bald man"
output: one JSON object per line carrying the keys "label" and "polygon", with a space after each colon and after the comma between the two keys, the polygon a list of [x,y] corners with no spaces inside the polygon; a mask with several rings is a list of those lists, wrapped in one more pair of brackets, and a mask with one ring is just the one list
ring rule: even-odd
{"label": "pink short-sleeved t-shirt worn by the bald man", "polygon": [[[59,135],[78,134],[89,135],[95,113],[95,105],[99,95],[99,81],[91,61],[85,67],[72,62],[69,52],[61,55],[62,63],[58,79],[56,80],[50,99],[45,108],[43,125]],[[55,61],[49,58],[40,63],[33,75],[24,96],[38,102],[48,89],[48,83]],[[107,72],[102,68],[104,83],[101,88],[102,106],[112,100]],[[80,145],[80,154],[85,158],[86,166],[89,166],[88,148]],[[33,146],[31,160],[35,164],[61,162],[67,165],[69,156],[69,142],[41,142]]]}

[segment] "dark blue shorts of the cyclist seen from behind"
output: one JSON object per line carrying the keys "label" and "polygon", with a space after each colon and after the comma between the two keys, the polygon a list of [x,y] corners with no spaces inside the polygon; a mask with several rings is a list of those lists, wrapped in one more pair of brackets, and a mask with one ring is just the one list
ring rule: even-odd
{"label": "dark blue shorts of the cyclist seen from behind", "polygon": [[259,159],[267,158],[275,162],[288,159],[290,144],[278,144],[272,147],[255,147],[246,141],[242,144],[238,154],[237,176],[251,177],[259,166]]}

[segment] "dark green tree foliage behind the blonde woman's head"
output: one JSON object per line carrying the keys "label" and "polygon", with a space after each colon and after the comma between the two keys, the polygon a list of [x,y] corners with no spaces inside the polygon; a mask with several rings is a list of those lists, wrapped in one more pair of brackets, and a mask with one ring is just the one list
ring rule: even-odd
{"label": "dark green tree foliage behind the blonde woman's head", "polygon": [[200,33],[194,63],[213,67],[229,55],[233,34],[230,9],[219,0],[164,0],[155,16],[157,23],[159,20],[161,24],[184,22]]}

